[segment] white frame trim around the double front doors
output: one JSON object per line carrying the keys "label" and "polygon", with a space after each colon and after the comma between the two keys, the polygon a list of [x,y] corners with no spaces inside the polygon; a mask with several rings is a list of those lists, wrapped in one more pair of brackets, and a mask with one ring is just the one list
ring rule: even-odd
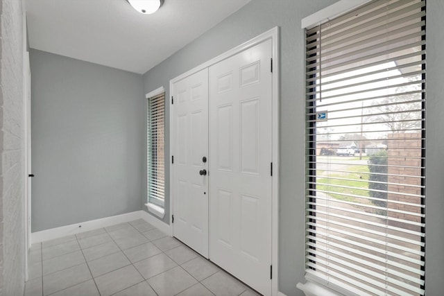
{"label": "white frame trim around the double front doors", "polygon": [[[175,82],[178,82],[179,80],[182,80],[186,78],[187,76],[190,76],[200,70],[203,70],[205,68],[208,68],[212,66],[213,64],[216,64],[218,62],[221,62],[222,60],[225,60],[227,58],[230,58],[232,55],[236,55],[237,53],[240,53],[241,51],[245,51],[246,49],[249,49],[250,47],[253,47],[257,44],[260,44],[266,40],[271,40],[272,43],[272,57],[273,57],[273,78],[272,78],[272,159],[273,159],[273,178],[271,181],[272,186],[272,209],[271,209],[271,262],[272,262],[272,274],[273,278],[271,279],[271,293],[272,295],[278,295],[278,276],[279,276],[279,268],[278,268],[278,250],[279,250],[279,139],[280,139],[280,130],[279,130],[279,123],[280,123],[280,38],[279,38],[279,27],[276,26],[272,28],[271,30],[266,31],[265,33],[262,33],[261,35],[258,35],[257,37],[254,37],[251,40],[248,40],[247,42],[244,42],[243,44],[240,44],[239,46],[234,47],[233,49],[230,49],[226,51],[225,53],[222,53],[221,55],[216,56],[216,58],[212,58],[211,60],[204,62],[203,64],[198,65],[197,67],[194,67],[193,69],[182,73],[180,76],[177,76],[176,78],[173,78],[169,82],[169,119],[171,121],[172,116],[172,107],[171,106],[171,96],[172,96],[172,90],[173,85]],[[171,127],[171,124],[170,124]],[[173,143],[173,137],[174,135],[170,132],[169,135],[169,141],[170,143]],[[173,155],[173,147],[170,145],[170,157]],[[174,180],[174,171],[171,164],[171,161],[169,161],[169,171],[170,171],[170,202],[169,202],[169,213],[170,215],[173,215],[173,203],[174,203],[174,191],[173,191],[173,182]],[[171,221],[171,216],[169,217]],[[171,225],[171,223],[170,223]],[[173,225],[171,225],[171,233],[173,233]]]}

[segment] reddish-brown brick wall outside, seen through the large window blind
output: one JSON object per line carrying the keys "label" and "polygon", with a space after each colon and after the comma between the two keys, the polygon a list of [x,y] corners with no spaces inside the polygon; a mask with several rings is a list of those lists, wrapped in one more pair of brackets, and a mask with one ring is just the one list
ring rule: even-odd
{"label": "reddish-brown brick wall outside, seen through the large window blind", "polygon": [[[402,183],[411,185],[420,185],[420,178],[406,177],[407,175],[418,176],[421,175],[421,134],[418,132],[412,133],[393,133],[388,134],[388,191],[410,193],[420,195],[421,189],[411,186],[391,185],[390,183]],[[400,157],[401,156],[401,157]],[[400,157],[400,158],[395,158]],[[398,168],[393,166],[416,166],[416,168]],[[401,175],[401,176],[394,176]],[[401,211],[411,211],[413,213],[420,213],[420,207],[411,205],[395,204],[390,200],[401,200],[402,202],[409,202],[412,204],[420,204],[420,198],[411,197],[408,195],[398,195],[388,193],[388,208],[399,209]],[[400,218],[420,222],[420,217],[401,213],[388,212],[388,216],[393,218]],[[415,229],[404,223],[394,223],[391,225],[407,229]]]}

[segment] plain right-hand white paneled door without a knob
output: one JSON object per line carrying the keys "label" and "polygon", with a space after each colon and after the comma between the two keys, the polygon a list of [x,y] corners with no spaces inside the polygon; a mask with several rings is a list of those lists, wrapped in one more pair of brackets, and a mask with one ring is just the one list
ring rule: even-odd
{"label": "plain right-hand white paneled door without a knob", "polygon": [[264,295],[271,295],[271,57],[266,40],[209,70],[210,259]]}

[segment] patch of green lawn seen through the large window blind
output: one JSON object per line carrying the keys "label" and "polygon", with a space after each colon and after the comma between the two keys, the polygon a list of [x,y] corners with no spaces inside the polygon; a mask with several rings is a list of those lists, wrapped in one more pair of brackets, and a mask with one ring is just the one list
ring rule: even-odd
{"label": "patch of green lawn seen through the large window blind", "polygon": [[[338,200],[345,200],[345,201],[349,201],[349,202],[360,202],[359,198],[354,198],[351,196],[342,195],[341,193],[361,195],[361,196],[368,198],[369,197],[368,182],[362,182],[363,180],[368,180],[368,175],[365,174],[365,173],[368,173],[368,166],[350,166],[349,169],[350,169],[350,171],[353,171],[353,172],[348,173],[346,175],[330,175],[330,177],[341,177],[341,178],[350,179],[350,180],[336,180],[336,179],[327,179],[326,177],[318,177],[316,188],[319,190],[336,192],[336,193],[328,193],[328,194]],[[323,184],[320,184],[320,183],[323,183]],[[350,186],[350,187],[354,187],[354,188],[350,189],[350,188],[329,186],[329,184],[330,185],[340,185],[340,186]]]}

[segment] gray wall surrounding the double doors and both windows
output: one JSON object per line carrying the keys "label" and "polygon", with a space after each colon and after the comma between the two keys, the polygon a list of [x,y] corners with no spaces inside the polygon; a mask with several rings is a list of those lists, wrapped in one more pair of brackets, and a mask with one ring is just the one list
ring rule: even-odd
{"label": "gray wall surrounding the double doors and both windows", "polygon": [[[280,26],[280,291],[302,295],[296,288],[304,281],[304,33],[300,20],[335,1],[253,0],[207,33],[185,46],[144,75],[145,92],[164,86],[169,97],[169,80],[219,53],[252,37]],[[444,14],[441,0],[428,0],[427,12],[427,293],[440,295],[444,278],[444,126],[443,71],[440,58]],[[167,157],[169,159],[169,107],[167,105]],[[167,164],[167,175],[169,166]],[[144,178],[146,180],[146,178]],[[166,184],[166,212],[169,223],[169,183]],[[145,187],[144,187],[145,188]]]}

